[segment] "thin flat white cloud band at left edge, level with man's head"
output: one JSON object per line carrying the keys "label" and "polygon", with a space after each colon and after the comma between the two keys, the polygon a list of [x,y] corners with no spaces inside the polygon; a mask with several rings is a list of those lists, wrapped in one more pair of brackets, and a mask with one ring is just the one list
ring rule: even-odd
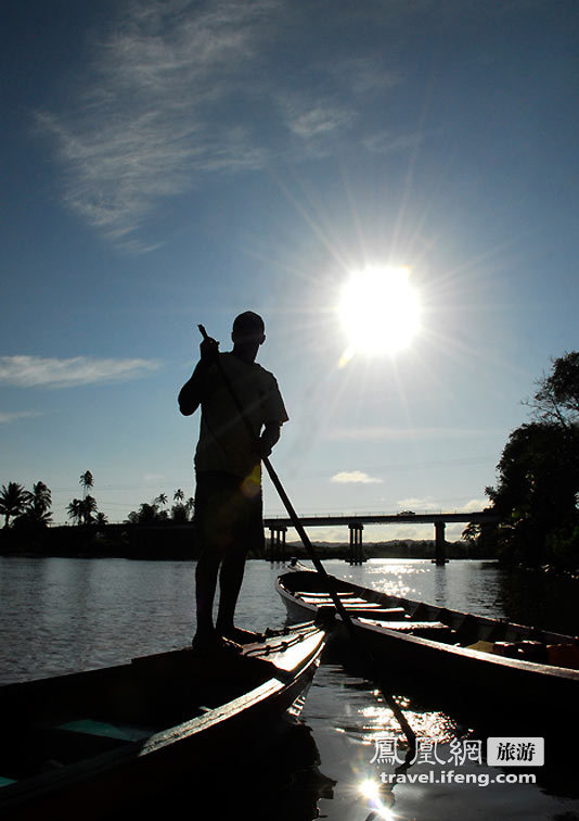
{"label": "thin flat white cloud band at left edge, level with man's head", "polygon": [[132,379],[156,370],[152,359],[97,359],[75,356],[70,359],[41,356],[0,356],[0,384],[18,388],[73,388],[123,379]]}

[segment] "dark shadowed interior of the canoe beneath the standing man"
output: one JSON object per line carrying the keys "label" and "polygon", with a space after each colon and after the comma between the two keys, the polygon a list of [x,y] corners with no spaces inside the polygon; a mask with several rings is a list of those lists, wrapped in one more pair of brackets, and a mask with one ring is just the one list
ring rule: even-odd
{"label": "dark shadowed interior of the canoe beneath the standing man", "polygon": [[176,651],[0,689],[0,786],[144,742],[271,678],[269,661]]}

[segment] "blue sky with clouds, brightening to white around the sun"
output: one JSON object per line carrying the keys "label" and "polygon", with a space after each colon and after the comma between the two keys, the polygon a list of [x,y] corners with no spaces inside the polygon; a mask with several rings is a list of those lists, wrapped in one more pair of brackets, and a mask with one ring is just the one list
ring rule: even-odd
{"label": "blue sky with clouds, brightening to white around the sun", "polygon": [[[56,521],[86,470],[112,521],[192,495],[196,324],[226,350],[252,308],[298,513],[480,509],[522,400],[577,349],[576,2],[2,17],[0,483],[44,481]],[[387,265],[420,330],[338,367],[340,289]]]}

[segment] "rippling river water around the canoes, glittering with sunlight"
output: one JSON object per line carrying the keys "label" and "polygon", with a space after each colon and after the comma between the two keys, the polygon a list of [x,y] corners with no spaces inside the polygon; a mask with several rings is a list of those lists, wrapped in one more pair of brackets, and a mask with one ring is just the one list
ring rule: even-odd
{"label": "rippling river water around the canoes, glittering with sunlight", "polygon": [[[419,559],[324,565],[335,576],[395,595],[579,633],[578,586],[567,579],[507,572],[484,561],[451,561],[446,567]],[[124,662],[188,645],[195,628],[194,567],[183,561],[0,558],[0,683]],[[239,627],[263,630],[285,623],[285,608],[273,588],[282,569],[265,561],[247,564]],[[375,791],[381,779],[394,772],[390,757],[403,751],[403,736],[371,682],[324,662],[300,717],[313,741],[318,766],[294,766],[279,794],[269,794],[268,800],[278,800],[276,807],[260,806],[255,797],[259,791],[254,790],[245,811],[256,819],[287,821],[318,817],[579,821],[577,716],[569,717],[564,750],[550,749],[545,742],[545,767],[523,768],[525,775],[535,774],[536,783],[515,782],[520,768],[516,773],[514,768],[507,771],[507,783],[496,783],[504,771],[488,767],[484,757],[480,760],[479,736],[472,728],[432,705],[422,708],[404,693],[395,695],[424,740],[421,760],[408,771],[407,783],[369,792],[369,782]],[[528,735],[533,735],[530,725]],[[240,741],[240,749],[227,755],[226,781],[242,755]],[[296,795],[300,800],[295,800]],[[165,803],[165,814],[180,818],[178,805],[175,812],[170,807]],[[235,814],[237,810],[239,803]]]}

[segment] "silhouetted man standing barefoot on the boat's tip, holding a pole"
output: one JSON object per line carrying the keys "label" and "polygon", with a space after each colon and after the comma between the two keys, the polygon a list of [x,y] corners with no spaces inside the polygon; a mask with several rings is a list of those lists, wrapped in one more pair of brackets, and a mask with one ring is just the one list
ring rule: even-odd
{"label": "silhouetted man standing barefoot on the boat's tip, holding a pole", "polygon": [[195,572],[193,639],[200,649],[219,647],[223,637],[237,642],[250,637],[234,627],[233,616],[247,553],[265,543],[261,458],[269,456],[288,418],[275,377],[255,362],[266,341],[261,317],[252,311],[240,314],[231,339],[229,353],[220,353],[214,339],[203,340],[201,359],[179,393],[184,416],[200,405],[202,409],[195,452],[195,534],[202,551]]}

